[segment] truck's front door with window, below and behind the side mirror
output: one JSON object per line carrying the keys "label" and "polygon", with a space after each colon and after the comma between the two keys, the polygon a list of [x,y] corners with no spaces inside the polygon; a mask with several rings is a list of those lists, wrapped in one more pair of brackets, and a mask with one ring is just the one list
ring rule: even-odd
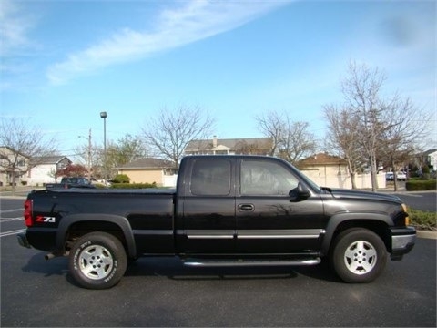
{"label": "truck's front door with window, below and behind the side mirror", "polygon": [[290,197],[302,181],[282,160],[241,159],[238,171],[237,252],[317,253],[325,227],[320,195]]}

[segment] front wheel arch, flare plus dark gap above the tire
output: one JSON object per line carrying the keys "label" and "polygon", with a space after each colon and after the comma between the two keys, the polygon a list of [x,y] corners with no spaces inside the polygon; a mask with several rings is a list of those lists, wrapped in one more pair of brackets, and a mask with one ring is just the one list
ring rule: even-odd
{"label": "front wheel arch, flare plus dark gap above the tire", "polygon": [[327,255],[330,246],[337,235],[351,228],[364,228],[373,231],[384,242],[387,251],[391,251],[391,234],[389,227],[392,220],[381,213],[341,213],[334,215],[326,227],[325,236],[321,244],[321,252]]}

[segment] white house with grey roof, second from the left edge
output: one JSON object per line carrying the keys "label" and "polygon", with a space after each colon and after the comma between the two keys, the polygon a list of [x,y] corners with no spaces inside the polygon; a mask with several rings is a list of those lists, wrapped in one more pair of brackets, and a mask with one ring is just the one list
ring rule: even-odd
{"label": "white house with grey roof, second from the left edge", "polygon": [[43,186],[46,183],[56,182],[56,172],[72,163],[66,156],[46,156],[35,158],[28,171],[27,183],[31,186]]}

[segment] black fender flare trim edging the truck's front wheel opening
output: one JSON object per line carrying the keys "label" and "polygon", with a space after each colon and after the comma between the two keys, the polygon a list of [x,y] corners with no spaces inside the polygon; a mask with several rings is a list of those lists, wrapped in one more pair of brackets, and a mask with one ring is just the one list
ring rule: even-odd
{"label": "black fender flare trim edging the truck's front wheel opening", "polygon": [[385,213],[378,212],[368,212],[368,213],[339,213],[334,214],[330,217],[328,225],[325,229],[325,236],[321,242],[321,252],[323,254],[328,254],[330,251],[330,243],[334,236],[337,227],[346,221],[354,220],[369,220],[369,221],[380,221],[387,224],[388,227],[393,225],[391,218]]}

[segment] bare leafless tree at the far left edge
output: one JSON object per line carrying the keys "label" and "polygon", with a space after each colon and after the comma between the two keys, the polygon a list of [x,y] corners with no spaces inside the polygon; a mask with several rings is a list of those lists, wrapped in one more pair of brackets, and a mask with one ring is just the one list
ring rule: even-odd
{"label": "bare leafless tree at the far left edge", "polygon": [[0,125],[0,167],[10,177],[15,192],[16,178],[56,154],[56,142],[24,118],[2,118]]}

